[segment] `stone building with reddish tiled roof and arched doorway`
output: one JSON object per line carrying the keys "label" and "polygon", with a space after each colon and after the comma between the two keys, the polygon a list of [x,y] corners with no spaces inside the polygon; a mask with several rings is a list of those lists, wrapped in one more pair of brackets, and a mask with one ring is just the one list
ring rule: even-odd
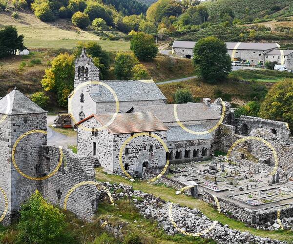
{"label": "stone building with reddish tiled roof and arched doorway", "polygon": [[[78,153],[96,157],[108,173],[123,174],[119,164],[121,148],[124,168],[132,176],[140,177],[143,167],[166,164],[166,150],[152,135],[167,144],[169,128],[150,112],[91,115],[76,126]],[[137,133],[145,135],[136,137]]]}

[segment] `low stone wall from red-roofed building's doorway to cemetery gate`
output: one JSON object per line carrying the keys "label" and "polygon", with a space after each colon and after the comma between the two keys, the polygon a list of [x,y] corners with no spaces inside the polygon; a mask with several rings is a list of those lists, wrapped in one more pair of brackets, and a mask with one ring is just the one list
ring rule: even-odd
{"label": "low stone wall from red-roofed building's doorway to cemetery gate", "polygon": [[[159,170],[159,172],[161,172],[161,171],[162,171],[162,169]],[[152,168],[150,168],[150,169],[143,168],[143,175],[142,175],[143,180],[150,180],[150,179],[153,179],[156,176],[158,176],[158,174],[155,174],[154,172],[152,172]],[[174,179],[167,178],[164,175],[161,178],[159,178],[155,183],[156,184],[165,184],[168,187],[172,187],[172,188],[174,188],[176,190],[180,190],[181,188],[187,186],[187,184],[185,184],[185,183],[182,183],[180,181],[176,181]],[[191,188],[188,188],[187,190],[185,190],[184,194],[191,195]]]}

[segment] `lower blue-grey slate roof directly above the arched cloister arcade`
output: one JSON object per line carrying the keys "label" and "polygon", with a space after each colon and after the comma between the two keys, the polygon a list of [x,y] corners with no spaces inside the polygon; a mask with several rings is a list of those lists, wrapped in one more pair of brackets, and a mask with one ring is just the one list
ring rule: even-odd
{"label": "lower blue-grey slate roof directly above the arched cloister arcade", "polygon": [[[202,125],[195,124],[195,125],[186,125],[191,131],[206,131],[207,128],[203,127]],[[210,133],[204,135],[195,135],[191,134],[188,131],[181,128],[181,126],[169,126],[170,130],[167,131],[167,142],[181,142],[181,141],[196,141],[196,140],[209,140],[212,139]]]}

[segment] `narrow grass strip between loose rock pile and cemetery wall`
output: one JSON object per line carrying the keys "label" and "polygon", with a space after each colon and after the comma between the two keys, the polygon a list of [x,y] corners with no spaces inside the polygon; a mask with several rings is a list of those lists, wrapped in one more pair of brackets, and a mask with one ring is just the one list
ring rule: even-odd
{"label": "narrow grass strip between loose rock pile and cemetery wall", "polygon": [[130,183],[122,176],[105,174],[101,168],[96,169],[96,179],[101,182],[124,183],[128,185],[131,184],[135,190],[142,190],[144,192],[151,193],[154,196],[160,197],[166,201],[180,203],[191,208],[198,208],[209,219],[217,220],[222,224],[228,224],[230,228],[233,229],[238,229],[240,231],[248,231],[253,235],[258,235],[261,237],[270,237],[272,239],[286,240],[290,243],[292,243],[293,241],[293,232],[290,230],[264,231],[249,228],[240,221],[229,219],[226,215],[219,214],[217,210],[213,209],[208,203],[205,203],[202,200],[194,199],[184,195],[176,195],[175,190],[172,188],[168,188],[162,185],[148,184],[145,181],[137,181],[134,183]]}

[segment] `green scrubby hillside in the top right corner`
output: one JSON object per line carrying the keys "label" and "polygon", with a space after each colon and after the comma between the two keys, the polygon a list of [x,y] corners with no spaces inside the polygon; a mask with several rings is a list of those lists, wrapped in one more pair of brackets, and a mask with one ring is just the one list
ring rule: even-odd
{"label": "green scrubby hillside in the top right corner", "polygon": [[202,4],[208,8],[209,15],[216,19],[219,18],[219,13],[227,8],[233,10],[237,19],[243,19],[246,13],[253,19],[262,19],[265,16],[271,18],[293,16],[292,0],[217,0]]}

